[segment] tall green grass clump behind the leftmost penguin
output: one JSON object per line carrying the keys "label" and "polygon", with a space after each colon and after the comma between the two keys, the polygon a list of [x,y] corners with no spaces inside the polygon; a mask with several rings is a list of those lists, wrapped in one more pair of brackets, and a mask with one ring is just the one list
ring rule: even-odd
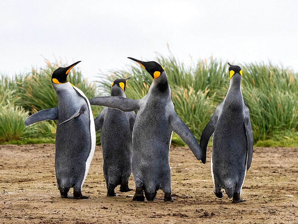
{"label": "tall green grass clump behind the leftmost penguin", "polygon": [[[65,67],[61,62],[49,63],[38,70],[16,75],[13,78],[1,76],[0,80],[0,143],[3,142],[53,142],[56,132],[55,121],[43,121],[26,126],[26,118],[37,111],[58,105],[57,94],[52,86],[51,76],[58,67]],[[80,88],[88,98],[98,95],[97,87],[81,72],[73,68],[68,75],[69,82]],[[93,108],[95,113],[100,108]]]}

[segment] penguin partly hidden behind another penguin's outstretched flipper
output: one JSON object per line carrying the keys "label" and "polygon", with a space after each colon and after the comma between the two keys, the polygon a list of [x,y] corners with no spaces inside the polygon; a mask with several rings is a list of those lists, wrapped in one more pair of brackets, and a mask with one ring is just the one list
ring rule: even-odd
{"label": "penguin partly hidden behind another penguin's outstretched flipper", "polygon": [[[126,79],[116,79],[111,86],[111,96],[125,96]],[[116,196],[115,188],[128,192],[131,175],[132,131],[136,114],[118,109],[103,108],[94,119],[95,131],[101,128],[100,142],[103,148],[103,174],[107,184],[108,196]]]}

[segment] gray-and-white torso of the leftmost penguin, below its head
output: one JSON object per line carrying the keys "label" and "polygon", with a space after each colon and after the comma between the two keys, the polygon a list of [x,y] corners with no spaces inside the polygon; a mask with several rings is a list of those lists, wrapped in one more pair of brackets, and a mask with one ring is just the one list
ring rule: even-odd
{"label": "gray-and-white torso of the leftmost penguin, below its head", "polygon": [[[63,86],[62,86],[63,85]],[[84,93],[69,82],[55,86],[58,96],[55,169],[58,185],[80,183],[86,179],[95,149],[95,126],[91,107]],[[84,105],[80,116],[61,124]],[[91,118],[91,119],[90,119]]]}

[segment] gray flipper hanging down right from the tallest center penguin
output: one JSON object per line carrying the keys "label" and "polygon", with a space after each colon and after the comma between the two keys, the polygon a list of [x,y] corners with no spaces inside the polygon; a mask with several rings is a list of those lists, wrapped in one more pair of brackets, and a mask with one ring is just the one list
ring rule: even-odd
{"label": "gray flipper hanging down right from the tallest center penguin", "polygon": [[201,160],[202,158],[202,150],[201,147],[193,136],[193,133],[189,130],[187,125],[178,117],[175,111],[169,117],[170,126],[176,134],[182,139],[185,144],[190,148],[190,150],[195,155],[195,158]]}

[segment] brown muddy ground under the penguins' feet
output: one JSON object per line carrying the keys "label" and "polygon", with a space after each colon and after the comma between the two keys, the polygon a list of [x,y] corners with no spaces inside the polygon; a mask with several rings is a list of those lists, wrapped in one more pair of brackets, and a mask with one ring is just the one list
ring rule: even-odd
{"label": "brown muddy ground under the penguins' feet", "polygon": [[[106,197],[102,150],[96,147],[83,194],[62,199],[55,178],[55,145],[0,145],[0,223],[298,223],[298,148],[254,148],[241,197],[215,197],[207,163],[188,148],[170,148],[176,200],[133,202],[134,191]],[[134,188],[131,175],[130,187]],[[72,189],[71,189],[72,190]]]}

